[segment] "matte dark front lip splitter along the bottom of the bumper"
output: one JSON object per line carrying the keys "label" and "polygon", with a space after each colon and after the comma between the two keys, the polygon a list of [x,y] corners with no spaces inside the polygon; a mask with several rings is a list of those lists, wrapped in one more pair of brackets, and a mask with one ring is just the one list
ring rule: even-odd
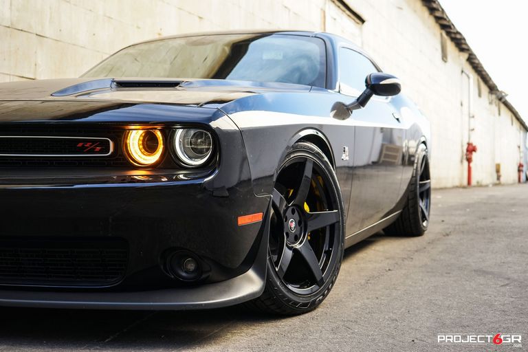
{"label": "matte dark front lip splitter along the bottom of the bumper", "polygon": [[[265,223],[263,233],[267,234]],[[210,309],[236,305],[261,296],[265,287],[267,236],[247,272],[219,283],[139,292],[61,292],[0,289],[6,307],[70,309]]]}

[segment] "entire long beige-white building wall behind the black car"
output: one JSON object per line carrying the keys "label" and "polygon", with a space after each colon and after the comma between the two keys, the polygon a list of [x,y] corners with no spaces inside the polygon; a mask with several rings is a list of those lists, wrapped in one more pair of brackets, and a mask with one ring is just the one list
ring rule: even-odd
{"label": "entire long beige-white building wall behind the black car", "polygon": [[495,183],[496,164],[503,183],[517,180],[522,126],[485,85],[478,96],[467,54],[449,39],[442,60],[441,29],[419,0],[0,0],[0,82],[79,76],[159,36],[256,28],[340,34],[399,76],[431,122],[434,186],[465,184],[469,135],[474,184]]}

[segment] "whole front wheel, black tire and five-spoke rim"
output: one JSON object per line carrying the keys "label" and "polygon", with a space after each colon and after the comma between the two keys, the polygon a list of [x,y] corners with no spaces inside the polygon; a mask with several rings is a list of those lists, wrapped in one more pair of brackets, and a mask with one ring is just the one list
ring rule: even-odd
{"label": "whole front wheel, black tire and five-spoke rim", "polygon": [[272,198],[266,286],[249,305],[272,314],[307,313],[328,296],[343,257],[343,201],[325,154],[308,142],[294,144],[278,168]]}

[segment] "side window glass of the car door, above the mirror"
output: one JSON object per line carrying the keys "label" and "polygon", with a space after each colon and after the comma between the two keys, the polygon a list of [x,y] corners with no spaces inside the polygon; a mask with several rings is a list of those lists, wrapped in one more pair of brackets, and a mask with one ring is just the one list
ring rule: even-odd
{"label": "side window glass of the car door, above the mirror", "polygon": [[377,72],[368,58],[346,47],[340,49],[339,66],[339,91],[349,96],[359,96],[365,89],[366,76]]}

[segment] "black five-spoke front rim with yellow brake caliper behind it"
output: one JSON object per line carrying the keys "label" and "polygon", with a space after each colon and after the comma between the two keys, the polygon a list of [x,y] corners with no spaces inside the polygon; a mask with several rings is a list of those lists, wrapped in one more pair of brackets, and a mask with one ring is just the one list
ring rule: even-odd
{"label": "black five-spoke front rim with yellow brake caliper behind it", "polygon": [[309,157],[283,165],[273,190],[270,256],[292,292],[309,295],[331,278],[340,247],[338,196],[329,175]]}

